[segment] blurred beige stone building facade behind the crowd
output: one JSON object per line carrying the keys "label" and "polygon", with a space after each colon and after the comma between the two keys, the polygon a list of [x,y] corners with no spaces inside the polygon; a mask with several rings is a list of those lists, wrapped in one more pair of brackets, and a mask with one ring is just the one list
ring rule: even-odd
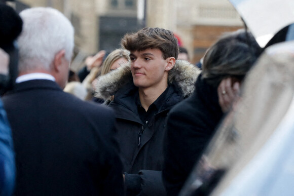
{"label": "blurred beige stone building facade behind the crowd", "polygon": [[[220,34],[242,28],[228,0],[18,0],[28,7],[53,7],[75,27],[76,61],[120,47],[121,37],[144,26],[172,30],[192,63]],[[76,61],[73,61],[73,66]]]}

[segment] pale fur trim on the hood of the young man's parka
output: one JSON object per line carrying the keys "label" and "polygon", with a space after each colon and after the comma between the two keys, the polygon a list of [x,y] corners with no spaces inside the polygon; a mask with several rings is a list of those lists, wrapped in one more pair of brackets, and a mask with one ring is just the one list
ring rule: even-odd
{"label": "pale fur trim on the hood of the young man's parka", "polygon": [[[180,87],[182,96],[189,97],[194,89],[194,83],[201,70],[185,60],[177,60],[174,67],[168,73],[168,83],[176,82]],[[95,86],[95,97],[108,100],[129,80],[132,80],[130,64],[122,65],[117,70],[98,77]]]}

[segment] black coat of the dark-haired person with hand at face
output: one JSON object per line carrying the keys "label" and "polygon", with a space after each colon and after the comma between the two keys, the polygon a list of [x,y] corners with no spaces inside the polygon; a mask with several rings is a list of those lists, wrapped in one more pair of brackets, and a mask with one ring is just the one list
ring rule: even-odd
{"label": "black coat of the dark-haired person with hand at face", "polygon": [[201,74],[195,86],[167,118],[163,181],[168,195],[178,195],[223,116],[217,87],[208,85]]}

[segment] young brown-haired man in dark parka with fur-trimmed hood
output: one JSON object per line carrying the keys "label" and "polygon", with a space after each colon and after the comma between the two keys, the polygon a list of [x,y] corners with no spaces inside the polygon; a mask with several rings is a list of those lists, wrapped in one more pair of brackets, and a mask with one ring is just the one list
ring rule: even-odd
{"label": "young brown-haired man in dark parka with fur-trimmed hood", "polygon": [[122,46],[131,64],[99,77],[96,96],[114,95],[117,138],[128,195],[165,195],[161,170],[166,116],[194,90],[200,70],[176,61],[178,41],[161,28],[126,34]]}

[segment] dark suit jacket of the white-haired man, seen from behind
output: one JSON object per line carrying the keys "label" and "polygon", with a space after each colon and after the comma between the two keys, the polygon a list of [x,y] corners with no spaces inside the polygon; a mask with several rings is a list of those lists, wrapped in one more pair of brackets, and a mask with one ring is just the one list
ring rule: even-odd
{"label": "dark suit jacket of the white-haired man, seen from behind", "polygon": [[17,84],[3,98],[16,153],[16,195],[121,195],[114,113],[55,82]]}

